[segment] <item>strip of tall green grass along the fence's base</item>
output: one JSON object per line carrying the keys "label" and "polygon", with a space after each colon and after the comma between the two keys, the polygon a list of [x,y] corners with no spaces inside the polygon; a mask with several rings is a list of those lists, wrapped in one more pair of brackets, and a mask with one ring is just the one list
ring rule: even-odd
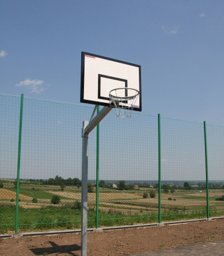
{"label": "strip of tall green grass along the fence's base", "polygon": [[[91,210],[92,209],[92,210]],[[96,223],[96,212],[93,208],[88,211],[88,228],[94,228]],[[7,233],[10,230],[15,231],[15,205],[2,204],[0,210],[0,233]],[[221,216],[222,211],[212,209],[211,216]],[[195,218],[206,218],[206,211],[195,209],[192,212],[184,213],[183,211],[173,210],[163,212],[161,215],[162,222],[190,220]],[[99,212],[100,226],[125,226],[138,223],[158,222],[158,214],[134,213],[124,214],[119,211]],[[39,230],[58,230],[80,228],[81,211],[72,209],[71,204],[60,205],[57,208],[52,206],[42,207],[39,209],[20,208],[18,217],[19,232],[22,231],[39,231]]]}

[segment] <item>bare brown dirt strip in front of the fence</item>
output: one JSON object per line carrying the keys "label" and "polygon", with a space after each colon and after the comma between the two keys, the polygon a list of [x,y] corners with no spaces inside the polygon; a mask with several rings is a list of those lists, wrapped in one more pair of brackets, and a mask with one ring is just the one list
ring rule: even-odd
{"label": "bare brown dirt strip in front of the fence", "polygon": [[[224,220],[88,233],[88,256],[153,252],[224,239]],[[80,234],[0,239],[0,255],[81,255]],[[215,255],[215,253],[213,254]]]}

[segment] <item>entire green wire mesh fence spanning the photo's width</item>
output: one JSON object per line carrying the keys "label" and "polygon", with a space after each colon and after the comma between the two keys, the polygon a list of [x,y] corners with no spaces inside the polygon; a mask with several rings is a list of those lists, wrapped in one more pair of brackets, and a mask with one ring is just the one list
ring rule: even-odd
{"label": "entire green wire mesh fence spanning the photo's width", "polygon": [[[94,107],[24,98],[18,220],[16,179],[21,97],[0,94],[0,232],[64,230],[81,225],[82,121]],[[207,125],[210,216],[223,216],[224,128]],[[99,204],[96,129],[88,154],[88,227],[207,218],[204,126],[114,109],[100,122]]]}

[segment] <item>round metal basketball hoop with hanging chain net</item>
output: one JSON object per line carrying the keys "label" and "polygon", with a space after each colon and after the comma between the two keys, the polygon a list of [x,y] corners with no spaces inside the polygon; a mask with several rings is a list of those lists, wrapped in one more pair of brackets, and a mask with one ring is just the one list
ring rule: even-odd
{"label": "round metal basketball hoop with hanging chain net", "polygon": [[110,106],[119,118],[131,117],[139,91],[133,88],[116,88],[109,92]]}

